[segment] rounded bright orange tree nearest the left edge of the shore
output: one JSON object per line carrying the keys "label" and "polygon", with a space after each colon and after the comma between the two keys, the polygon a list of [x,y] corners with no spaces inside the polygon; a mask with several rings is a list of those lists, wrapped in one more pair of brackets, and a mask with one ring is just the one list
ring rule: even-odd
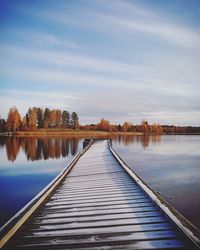
{"label": "rounded bright orange tree nearest the left edge of the shore", "polygon": [[13,107],[9,110],[7,123],[9,131],[15,132],[19,130],[21,118],[16,107]]}

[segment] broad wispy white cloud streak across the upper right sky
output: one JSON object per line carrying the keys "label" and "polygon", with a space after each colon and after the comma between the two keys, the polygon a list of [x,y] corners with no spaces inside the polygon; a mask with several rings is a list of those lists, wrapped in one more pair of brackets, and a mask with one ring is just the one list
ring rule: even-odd
{"label": "broad wispy white cloud streak across the upper right sky", "polygon": [[65,15],[62,12],[41,12],[40,18],[46,18],[66,26],[104,32],[111,36],[144,35],[186,48],[199,49],[200,32],[197,30],[164,21],[163,16],[159,16],[158,13],[153,13],[127,1],[97,2],[97,6],[99,5],[102,8],[98,11],[96,8],[89,10],[85,8],[84,19],[81,19],[81,22],[80,19],[76,18],[76,16],[81,15],[79,11],[73,12],[74,16]]}

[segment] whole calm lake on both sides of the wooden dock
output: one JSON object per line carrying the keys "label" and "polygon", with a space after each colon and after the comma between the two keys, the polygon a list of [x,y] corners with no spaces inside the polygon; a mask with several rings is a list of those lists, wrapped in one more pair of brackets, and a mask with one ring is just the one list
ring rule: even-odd
{"label": "whole calm lake on both sides of the wooden dock", "polygon": [[[0,138],[0,226],[83,147],[83,138]],[[116,152],[155,191],[200,226],[200,136],[120,136]]]}

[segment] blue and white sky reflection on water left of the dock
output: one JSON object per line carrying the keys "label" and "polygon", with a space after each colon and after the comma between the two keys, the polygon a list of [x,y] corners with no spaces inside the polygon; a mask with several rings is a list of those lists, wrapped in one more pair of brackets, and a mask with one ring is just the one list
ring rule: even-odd
{"label": "blue and white sky reflection on water left of the dock", "polygon": [[[69,145],[74,144],[74,140],[66,140]],[[28,139],[27,143],[29,144]],[[76,143],[78,152],[82,149],[82,139],[76,140]],[[0,226],[39,193],[74,157],[69,150],[65,157],[59,155],[47,160],[28,160],[20,148],[16,159],[11,161],[8,160],[9,149],[6,146],[5,144],[0,147]]]}

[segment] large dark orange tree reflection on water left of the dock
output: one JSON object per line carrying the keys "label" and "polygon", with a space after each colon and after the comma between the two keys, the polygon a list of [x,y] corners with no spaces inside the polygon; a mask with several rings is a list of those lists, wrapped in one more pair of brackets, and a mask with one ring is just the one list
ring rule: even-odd
{"label": "large dark orange tree reflection on water left of the dock", "polygon": [[36,138],[36,137],[4,137],[1,147],[6,148],[7,159],[14,162],[22,150],[27,160],[47,160],[74,156],[78,150],[80,138]]}

